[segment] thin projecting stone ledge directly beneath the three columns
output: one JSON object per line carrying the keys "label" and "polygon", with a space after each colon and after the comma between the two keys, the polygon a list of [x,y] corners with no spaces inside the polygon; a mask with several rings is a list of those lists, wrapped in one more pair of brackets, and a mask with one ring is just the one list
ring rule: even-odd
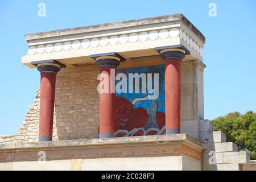
{"label": "thin projecting stone ledge directly beneath the three columns", "polygon": [[205,145],[199,139],[193,138],[187,134],[172,134],[172,135],[152,135],[143,137],[120,137],[120,138],[104,138],[104,139],[80,139],[80,140],[63,140],[52,142],[31,142],[31,143],[9,143],[0,144],[0,152],[6,150],[19,149],[35,149],[35,148],[67,148],[67,147],[96,147],[96,146],[112,146],[113,144],[167,144],[167,143],[189,143],[197,150],[204,150]]}

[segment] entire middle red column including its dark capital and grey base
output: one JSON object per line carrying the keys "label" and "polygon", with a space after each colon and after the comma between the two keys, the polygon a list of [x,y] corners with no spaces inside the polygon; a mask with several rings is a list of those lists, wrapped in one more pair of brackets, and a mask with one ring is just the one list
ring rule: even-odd
{"label": "entire middle red column including its dark capital and grey base", "polygon": [[[125,61],[125,58],[115,52],[91,55],[91,57],[96,60],[101,73],[98,87],[100,92],[99,137],[112,138],[114,137],[115,72],[120,61]],[[102,81],[102,78],[105,81]],[[104,88],[102,88],[102,82],[104,82]],[[108,89],[105,88],[105,84]]]}

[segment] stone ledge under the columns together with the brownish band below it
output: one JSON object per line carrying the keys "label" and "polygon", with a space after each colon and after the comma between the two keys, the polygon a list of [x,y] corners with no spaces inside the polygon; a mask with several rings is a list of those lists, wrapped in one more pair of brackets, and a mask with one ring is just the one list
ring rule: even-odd
{"label": "stone ledge under the columns together with the brownish band below it", "polygon": [[186,134],[16,143],[0,145],[0,163],[38,161],[39,151],[46,152],[47,161],[153,155],[186,155],[201,161],[204,149],[204,144]]}

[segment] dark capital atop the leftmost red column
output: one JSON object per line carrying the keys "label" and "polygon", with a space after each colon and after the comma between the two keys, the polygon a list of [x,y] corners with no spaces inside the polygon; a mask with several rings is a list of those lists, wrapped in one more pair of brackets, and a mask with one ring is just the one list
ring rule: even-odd
{"label": "dark capital atop the leftmost red column", "polygon": [[53,59],[43,61],[32,61],[31,64],[35,65],[40,73],[57,73],[60,71],[60,68],[66,67],[64,64],[61,64]]}

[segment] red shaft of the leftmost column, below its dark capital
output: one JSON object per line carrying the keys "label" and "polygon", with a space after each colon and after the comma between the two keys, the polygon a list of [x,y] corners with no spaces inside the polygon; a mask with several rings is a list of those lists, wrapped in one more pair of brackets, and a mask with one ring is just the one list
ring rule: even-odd
{"label": "red shaft of the leftmost column, below its dark capital", "polygon": [[52,140],[56,73],[41,73],[39,141]]}

